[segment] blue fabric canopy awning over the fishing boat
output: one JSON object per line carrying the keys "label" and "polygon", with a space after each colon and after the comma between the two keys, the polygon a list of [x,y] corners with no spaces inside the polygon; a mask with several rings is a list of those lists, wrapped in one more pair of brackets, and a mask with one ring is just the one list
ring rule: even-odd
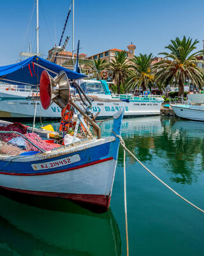
{"label": "blue fabric canopy awning over the fishing boat", "polygon": [[85,77],[82,74],[61,67],[55,63],[33,56],[19,63],[0,67],[0,81],[10,84],[37,85],[43,70],[55,77],[61,70],[66,72],[69,79]]}

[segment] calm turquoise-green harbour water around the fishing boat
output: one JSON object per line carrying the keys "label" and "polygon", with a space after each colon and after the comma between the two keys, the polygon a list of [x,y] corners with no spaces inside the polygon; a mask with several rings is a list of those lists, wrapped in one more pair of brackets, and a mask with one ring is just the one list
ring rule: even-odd
{"label": "calm turquoise-green harbour water around the fishing boat", "polygon": [[[110,134],[112,122],[102,129],[103,136]],[[122,138],[152,172],[204,209],[204,123],[160,116],[125,119]],[[126,179],[129,255],[204,254],[204,214],[131,156]],[[122,148],[105,214],[66,200],[0,192],[0,255],[126,255]]]}

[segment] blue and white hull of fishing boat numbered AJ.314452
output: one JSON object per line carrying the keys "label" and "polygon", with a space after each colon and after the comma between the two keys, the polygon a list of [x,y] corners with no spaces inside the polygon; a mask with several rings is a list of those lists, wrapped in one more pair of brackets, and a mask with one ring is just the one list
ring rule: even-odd
{"label": "blue and white hull of fishing boat numbered AJ.314452", "polygon": [[[120,134],[122,111],[113,131]],[[108,209],[119,138],[112,136],[60,147],[33,156],[1,155],[0,187],[34,195],[67,198]]]}

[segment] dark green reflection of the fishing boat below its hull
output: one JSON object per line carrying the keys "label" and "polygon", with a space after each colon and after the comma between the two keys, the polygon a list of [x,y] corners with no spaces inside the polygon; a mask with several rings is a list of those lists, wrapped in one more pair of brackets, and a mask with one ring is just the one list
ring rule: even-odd
{"label": "dark green reflection of the fishing boat below its hull", "polygon": [[0,200],[0,255],[121,255],[110,209],[94,214],[68,200],[3,189]]}

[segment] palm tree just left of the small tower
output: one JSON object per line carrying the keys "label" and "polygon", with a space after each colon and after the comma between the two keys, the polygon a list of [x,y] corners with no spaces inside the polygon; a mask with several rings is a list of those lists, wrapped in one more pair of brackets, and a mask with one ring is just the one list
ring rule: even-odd
{"label": "palm tree just left of the small tower", "polygon": [[117,52],[108,65],[108,69],[112,72],[113,82],[117,84],[118,94],[120,94],[120,84],[124,84],[128,77],[128,67],[126,51]]}

